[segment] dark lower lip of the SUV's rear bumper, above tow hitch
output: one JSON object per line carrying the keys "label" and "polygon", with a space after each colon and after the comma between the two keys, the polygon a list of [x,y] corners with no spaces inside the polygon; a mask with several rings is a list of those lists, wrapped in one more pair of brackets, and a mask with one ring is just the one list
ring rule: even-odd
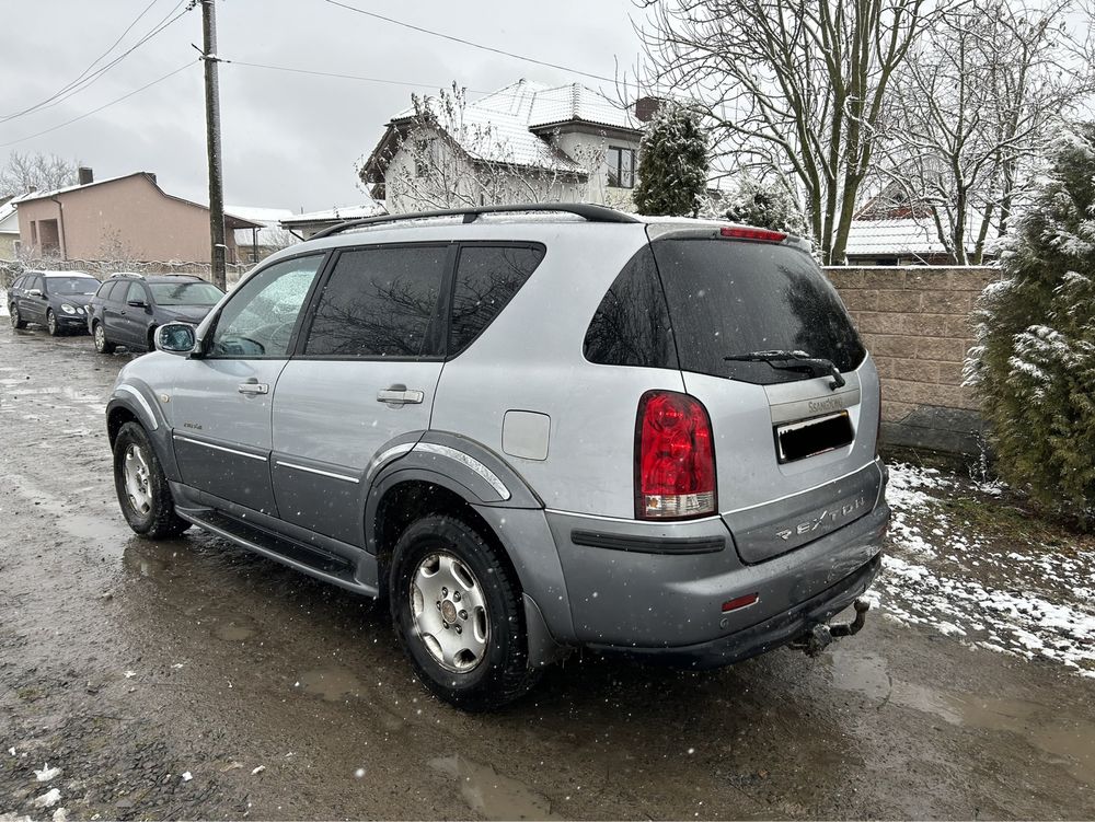
{"label": "dark lower lip of the SUV's rear bumper, above tow hitch", "polygon": [[728,665],[786,645],[810,625],[825,623],[849,607],[874,581],[881,567],[881,554],[837,584],[762,623],[729,636],[698,645],[666,648],[634,648],[590,645],[591,648],[659,664],[705,669]]}

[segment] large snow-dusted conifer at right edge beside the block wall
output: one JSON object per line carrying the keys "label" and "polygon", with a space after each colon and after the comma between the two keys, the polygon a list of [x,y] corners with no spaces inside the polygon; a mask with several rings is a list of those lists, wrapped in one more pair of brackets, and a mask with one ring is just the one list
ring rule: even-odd
{"label": "large snow-dusted conifer at right edge beside the block wall", "polygon": [[1052,169],[975,315],[967,382],[982,400],[1001,475],[1085,524],[1095,514],[1095,125],[1053,148]]}

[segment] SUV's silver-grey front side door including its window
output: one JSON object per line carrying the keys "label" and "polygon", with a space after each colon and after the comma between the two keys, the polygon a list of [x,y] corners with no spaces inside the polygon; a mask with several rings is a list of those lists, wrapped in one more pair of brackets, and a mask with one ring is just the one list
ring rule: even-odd
{"label": "SUV's silver-grey front side door including its window", "polygon": [[323,259],[296,257],[251,276],[221,310],[205,356],[180,369],[172,439],[187,485],[277,514],[269,471],[274,386]]}

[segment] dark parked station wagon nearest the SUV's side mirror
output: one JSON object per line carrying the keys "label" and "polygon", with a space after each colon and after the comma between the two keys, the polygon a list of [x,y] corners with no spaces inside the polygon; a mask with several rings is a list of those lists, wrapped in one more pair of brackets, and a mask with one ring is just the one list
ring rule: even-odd
{"label": "dark parked station wagon nearest the SUV's side mirror", "polygon": [[164,323],[200,323],[224,292],[196,275],[115,274],[99,287],[88,309],[95,350],[118,346],[151,351],[152,335]]}

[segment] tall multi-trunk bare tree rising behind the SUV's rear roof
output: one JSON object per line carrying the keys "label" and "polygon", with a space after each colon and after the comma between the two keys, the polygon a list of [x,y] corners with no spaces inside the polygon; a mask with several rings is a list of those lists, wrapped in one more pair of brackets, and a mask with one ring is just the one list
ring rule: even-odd
{"label": "tall multi-trunk bare tree rising behind the SUV's rear roof", "polygon": [[642,72],[703,107],[713,154],[794,180],[827,263],[844,259],[895,71],[926,0],[637,0]]}

